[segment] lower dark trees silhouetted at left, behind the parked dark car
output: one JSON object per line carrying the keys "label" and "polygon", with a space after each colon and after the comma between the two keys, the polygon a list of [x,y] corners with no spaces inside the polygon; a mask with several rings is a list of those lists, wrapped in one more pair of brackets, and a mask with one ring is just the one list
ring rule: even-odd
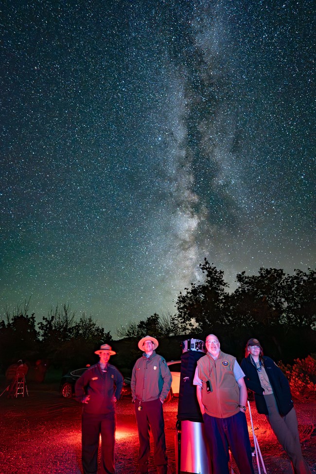
{"label": "lower dark trees silhouetted at left, behind the parked dark car", "polygon": [[47,359],[50,364],[66,371],[76,364],[84,366],[95,348],[112,340],[92,317],[76,318],[70,304],[57,305],[48,316],[36,323],[29,316],[30,299],[13,311],[5,310],[0,321],[0,364],[2,372],[18,359],[34,363]]}

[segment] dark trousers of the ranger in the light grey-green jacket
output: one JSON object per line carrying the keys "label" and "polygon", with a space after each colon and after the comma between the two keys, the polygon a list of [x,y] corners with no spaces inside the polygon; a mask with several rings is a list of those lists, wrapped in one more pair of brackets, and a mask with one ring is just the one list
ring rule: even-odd
{"label": "dark trousers of the ranger in the light grey-green jacket", "polygon": [[140,449],[138,452],[139,472],[141,474],[148,473],[148,458],[150,453],[149,430],[151,430],[154,438],[154,458],[158,474],[167,474],[168,458],[166,453],[162,403],[159,399],[153,400],[152,402],[141,402],[141,411],[138,409],[139,406],[140,401],[136,400],[135,414],[140,439]]}

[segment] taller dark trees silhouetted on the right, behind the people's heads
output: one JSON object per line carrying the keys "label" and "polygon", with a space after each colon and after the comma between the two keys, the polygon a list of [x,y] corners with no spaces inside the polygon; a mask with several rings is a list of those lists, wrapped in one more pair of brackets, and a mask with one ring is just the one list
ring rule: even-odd
{"label": "taller dark trees silhouetted on the right, behind the people's heads", "polygon": [[316,354],[315,270],[296,269],[293,275],[276,268],[260,268],[258,275],[250,276],[241,272],[237,288],[229,293],[223,271],[207,259],[199,266],[204,279],[179,294],[175,315],[154,314],[129,323],[118,331],[120,337],[152,334],[204,340],[213,333],[224,351],[241,359],[246,341],[255,336],[275,360],[290,362]]}

